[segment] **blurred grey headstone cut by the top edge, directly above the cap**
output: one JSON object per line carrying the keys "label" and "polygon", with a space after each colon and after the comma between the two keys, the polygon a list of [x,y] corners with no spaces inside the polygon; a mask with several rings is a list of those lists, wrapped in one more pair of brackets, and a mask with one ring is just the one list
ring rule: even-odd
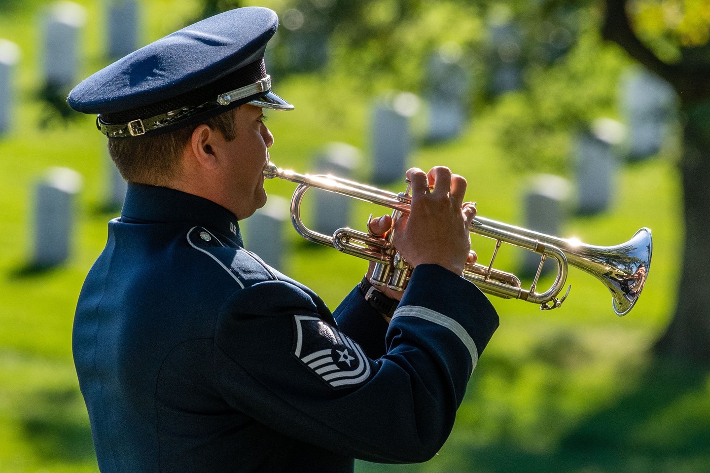
{"label": "blurred grey headstone cut by the top edge, directly above the cap", "polygon": [[120,59],[138,49],[140,18],[138,1],[105,0],[108,55]]}

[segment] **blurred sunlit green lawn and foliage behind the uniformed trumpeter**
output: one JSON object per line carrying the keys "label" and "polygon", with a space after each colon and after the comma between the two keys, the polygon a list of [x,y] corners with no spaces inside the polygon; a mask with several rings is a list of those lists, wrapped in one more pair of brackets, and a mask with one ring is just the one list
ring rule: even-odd
{"label": "blurred sunlit green lawn and foliage behind the uniformed trumpeter", "polygon": [[[102,1],[77,1],[87,9],[82,67],[77,81],[107,65]],[[296,1],[265,0],[280,17]],[[308,2],[301,2],[307,4]],[[485,3],[485,2],[484,2]],[[514,15],[515,2],[357,2],[333,12],[330,58],[316,70],[295,70],[278,49],[268,65],[275,91],[296,105],[271,114],[272,160],[305,172],[326,143],[360,148],[364,161],[354,178],[370,179],[370,122],[376,97],[391,90],[421,93],[428,55],[456,43],[471,73],[471,119],[461,136],[444,143],[423,139],[426,107],[413,119],[417,146],[411,164],[448,165],[469,180],[467,199],[479,214],[524,224],[523,192],[532,173],[572,177],[572,139],[599,117],[622,119],[619,80],[632,60],[599,35],[596,4],[564,10],[574,33],[559,58],[530,62],[524,87],[496,97],[486,86],[491,16]],[[555,3],[555,2],[552,2]],[[557,2],[564,4],[565,2]],[[584,3],[584,2],[582,2]],[[667,2],[668,3],[668,2]],[[256,4],[239,2],[240,6]],[[312,1],[313,9],[334,1]],[[182,28],[209,9],[236,2],[153,0],[141,4],[146,44]],[[512,6],[511,6],[512,5]],[[52,119],[40,99],[40,0],[0,0],[0,38],[21,48],[16,67],[16,119],[0,136],[0,472],[97,471],[86,409],[71,356],[72,317],[82,281],[118,215],[106,205],[109,170],[105,138],[94,117]],[[337,6],[342,6],[338,4]],[[528,5],[528,7],[530,7]],[[534,5],[533,5],[534,7]],[[530,7],[530,11],[534,8]],[[353,15],[350,21],[347,15]],[[650,13],[647,15],[652,17]],[[535,25],[535,16],[529,16]],[[648,21],[652,22],[652,19]],[[702,24],[702,23],[701,23]],[[705,23],[706,24],[706,23]],[[530,28],[529,28],[530,29]],[[670,54],[670,53],[669,53]],[[676,126],[675,136],[679,126]],[[454,431],[439,455],[420,465],[359,462],[359,472],[706,472],[710,471],[708,365],[657,357],[651,347],[670,322],[677,301],[681,211],[679,138],[670,136],[657,156],[622,165],[610,210],[572,215],[562,237],[596,245],[628,240],[650,227],[654,251],[650,278],[633,312],[613,315],[599,282],[570,270],[572,292],[559,310],[493,300],[501,327],[471,377]],[[33,187],[50,166],[82,174],[74,251],[55,268],[31,264]],[[270,195],[290,197],[293,185],[267,182]],[[401,190],[401,185],[387,186]],[[367,214],[356,205],[353,226]],[[244,228],[249,221],[244,222]],[[322,295],[331,308],[359,281],[366,263],[313,246],[285,229],[290,245],[285,272]],[[249,241],[246,241],[249,247]],[[488,241],[474,239],[481,259]],[[520,254],[506,249],[501,268],[515,270]]]}

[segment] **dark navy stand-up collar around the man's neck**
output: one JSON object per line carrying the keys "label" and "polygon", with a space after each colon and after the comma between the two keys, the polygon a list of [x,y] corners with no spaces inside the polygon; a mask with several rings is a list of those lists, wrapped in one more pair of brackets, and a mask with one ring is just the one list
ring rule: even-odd
{"label": "dark navy stand-up collar around the man's neck", "polygon": [[233,213],[212,200],[168,187],[129,184],[121,220],[198,224],[244,247]]}

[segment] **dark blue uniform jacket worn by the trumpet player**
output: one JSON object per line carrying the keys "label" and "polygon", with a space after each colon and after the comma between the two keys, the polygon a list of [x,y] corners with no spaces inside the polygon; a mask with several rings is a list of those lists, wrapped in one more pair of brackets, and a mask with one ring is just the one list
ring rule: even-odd
{"label": "dark blue uniform jacket worn by the trumpet player", "polygon": [[73,352],[104,473],[352,472],[446,440],[498,326],[469,281],[415,268],[387,325],[334,312],[242,245],[234,214],[131,185],[77,305]]}

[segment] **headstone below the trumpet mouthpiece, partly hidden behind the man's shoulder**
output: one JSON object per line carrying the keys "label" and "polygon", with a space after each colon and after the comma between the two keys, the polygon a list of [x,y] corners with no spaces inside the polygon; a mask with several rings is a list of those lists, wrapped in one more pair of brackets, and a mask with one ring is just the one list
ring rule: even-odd
{"label": "headstone below the trumpet mouthpiece, partly hidden behind the man's shoulder", "polygon": [[288,200],[272,195],[266,205],[249,217],[246,226],[246,249],[279,271],[283,270],[283,256],[288,253],[283,227],[290,219],[289,206]]}

